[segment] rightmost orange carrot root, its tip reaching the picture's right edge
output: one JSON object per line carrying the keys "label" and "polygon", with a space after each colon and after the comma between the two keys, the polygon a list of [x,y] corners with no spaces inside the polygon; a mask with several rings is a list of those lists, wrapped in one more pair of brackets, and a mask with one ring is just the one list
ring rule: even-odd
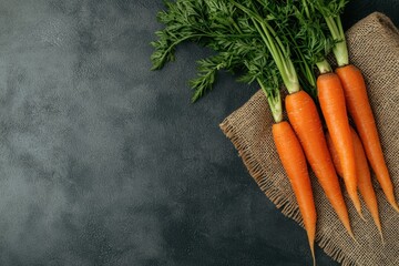
{"label": "rightmost orange carrot root, its tip reaching the picture's right edge", "polygon": [[354,119],[359,132],[366,155],[377,180],[389,202],[399,212],[395,200],[393,185],[383,158],[382,147],[377,132],[376,121],[368,100],[364,76],[358,68],[352,64],[340,66],[336,70],[345,93],[348,112]]}

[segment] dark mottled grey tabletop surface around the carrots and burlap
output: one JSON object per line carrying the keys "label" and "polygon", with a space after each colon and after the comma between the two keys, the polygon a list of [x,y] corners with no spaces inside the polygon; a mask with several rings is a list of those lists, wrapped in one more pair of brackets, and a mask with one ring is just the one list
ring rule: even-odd
{"label": "dark mottled grey tabletop surface around the carrots and burlap", "polygon": [[[256,88],[222,74],[190,104],[192,44],[150,71],[162,8],[0,1],[0,265],[310,265],[218,129]],[[358,0],[345,27],[377,10],[399,25],[398,0]]]}

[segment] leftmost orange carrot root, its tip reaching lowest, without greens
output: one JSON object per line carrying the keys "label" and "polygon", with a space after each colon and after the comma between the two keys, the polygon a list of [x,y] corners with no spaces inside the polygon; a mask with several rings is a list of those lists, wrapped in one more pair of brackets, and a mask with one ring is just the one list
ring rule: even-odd
{"label": "leftmost orange carrot root, its tip reaching lowest, without greens", "polygon": [[305,154],[287,121],[273,124],[272,131],[278,156],[299,206],[315,265],[314,243],[317,215]]}

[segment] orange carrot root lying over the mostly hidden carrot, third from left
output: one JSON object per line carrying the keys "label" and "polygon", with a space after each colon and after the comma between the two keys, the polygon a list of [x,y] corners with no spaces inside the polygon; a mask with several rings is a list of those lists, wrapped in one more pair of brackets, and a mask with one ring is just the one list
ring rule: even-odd
{"label": "orange carrot root lying over the mostly hidden carrot, third from left", "polygon": [[[318,99],[330,132],[337,155],[342,162],[342,177],[349,197],[356,211],[362,217],[359,196],[357,194],[357,174],[352,137],[349,129],[348,114],[341,83],[336,73],[326,72],[317,78]],[[362,217],[364,218],[364,217]]]}

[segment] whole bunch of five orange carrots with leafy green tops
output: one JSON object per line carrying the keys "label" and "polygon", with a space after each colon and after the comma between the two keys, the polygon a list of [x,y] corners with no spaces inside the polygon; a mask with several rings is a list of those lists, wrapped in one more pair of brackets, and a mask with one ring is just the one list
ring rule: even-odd
{"label": "whole bunch of five orange carrots with leafy green tops", "polygon": [[[153,69],[174,60],[175,47],[184,41],[217,52],[198,61],[200,74],[191,82],[193,101],[212,89],[221,69],[239,72],[241,81],[259,84],[275,121],[274,142],[297,198],[314,262],[317,214],[307,163],[354,239],[338,175],[362,217],[360,191],[381,237],[368,164],[388,202],[399,211],[365,80],[349,63],[340,21],[345,4],[346,0],[166,2],[167,11],[158,16],[166,27],[156,32],[160,40],[152,43]],[[335,72],[326,60],[330,51],[338,63]],[[289,122],[283,119],[280,84],[288,91],[285,108]],[[348,114],[358,134],[349,125]]]}

